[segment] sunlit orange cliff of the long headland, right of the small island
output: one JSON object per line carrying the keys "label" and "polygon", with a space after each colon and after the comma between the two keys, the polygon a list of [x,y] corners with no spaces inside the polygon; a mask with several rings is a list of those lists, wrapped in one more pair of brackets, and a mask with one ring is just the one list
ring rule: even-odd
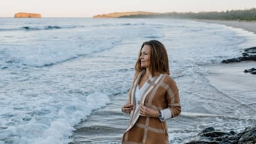
{"label": "sunlit orange cliff of the long headland, right of the small island", "polygon": [[92,18],[120,18],[125,16],[149,16],[157,15],[159,13],[146,12],[146,11],[132,11],[132,12],[115,12],[93,16]]}

